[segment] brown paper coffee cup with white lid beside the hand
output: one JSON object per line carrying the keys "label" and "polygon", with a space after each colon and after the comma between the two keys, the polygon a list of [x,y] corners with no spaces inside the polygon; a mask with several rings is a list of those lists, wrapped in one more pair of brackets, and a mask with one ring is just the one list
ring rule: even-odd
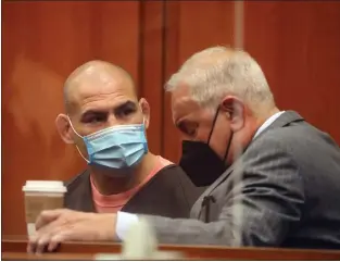
{"label": "brown paper coffee cup with white lid beside the hand", "polygon": [[27,180],[23,186],[28,236],[36,232],[36,220],[43,210],[62,209],[67,191],[63,182]]}

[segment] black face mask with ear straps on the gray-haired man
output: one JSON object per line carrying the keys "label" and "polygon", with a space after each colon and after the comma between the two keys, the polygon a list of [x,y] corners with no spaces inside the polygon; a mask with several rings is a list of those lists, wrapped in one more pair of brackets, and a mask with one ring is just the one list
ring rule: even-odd
{"label": "black face mask with ear straps on the gray-haired man", "polygon": [[201,141],[182,141],[182,152],[179,165],[187,173],[191,182],[198,187],[210,186],[227,170],[225,160],[230,148],[232,133],[223,160],[209,146],[218,116],[218,111],[219,108],[214,116],[213,126],[206,144]]}

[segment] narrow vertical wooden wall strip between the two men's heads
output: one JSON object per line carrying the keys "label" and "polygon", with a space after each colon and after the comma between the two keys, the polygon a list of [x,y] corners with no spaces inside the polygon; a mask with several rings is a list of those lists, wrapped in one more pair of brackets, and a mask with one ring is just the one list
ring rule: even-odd
{"label": "narrow vertical wooden wall strip between the two men's heads", "polygon": [[151,152],[161,154],[163,140],[163,1],[140,3],[139,83],[140,97],[151,108],[148,144]]}

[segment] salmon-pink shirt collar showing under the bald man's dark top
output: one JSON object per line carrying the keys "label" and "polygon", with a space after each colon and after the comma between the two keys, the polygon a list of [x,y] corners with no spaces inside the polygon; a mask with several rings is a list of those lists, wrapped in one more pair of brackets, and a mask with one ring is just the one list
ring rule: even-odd
{"label": "salmon-pink shirt collar showing under the bald man's dark top", "polygon": [[116,213],[121,211],[121,209],[127,203],[127,201],[142,187],[144,186],[155,174],[159,173],[165,166],[173,164],[171,161],[163,159],[161,155],[158,155],[158,163],[154,169],[150,172],[150,174],[144,178],[144,180],[138,186],[129,189],[128,191],[104,196],[101,195],[93,182],[92,176],[90,176],[91,189],[92,189],[92,199],[95,203],[95,208],[98,213]]}

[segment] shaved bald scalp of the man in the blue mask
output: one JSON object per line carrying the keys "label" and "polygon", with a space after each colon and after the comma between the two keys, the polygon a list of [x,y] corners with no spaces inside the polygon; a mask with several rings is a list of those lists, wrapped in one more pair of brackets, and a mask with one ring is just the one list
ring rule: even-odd
{"label": "shaved bald scalp of the man in the blue mask", "polygon": [[124,85],[135,93],[135,83],[129,73],[122,67],[105,61],[89,61],[71,73],[64,85],[64,104],[70,113],[79,99],[92,93],[105,92],[110,85]]}

